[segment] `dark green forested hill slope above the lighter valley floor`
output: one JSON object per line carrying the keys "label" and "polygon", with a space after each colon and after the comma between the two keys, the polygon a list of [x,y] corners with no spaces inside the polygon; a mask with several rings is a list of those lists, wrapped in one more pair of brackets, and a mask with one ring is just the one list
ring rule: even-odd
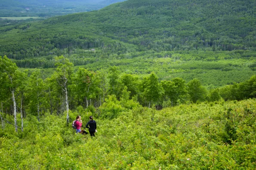
{"label": "dark green forested hill slope above the lighter valley floor", "polygon": [[127,0],[99,11],[1,27],[0,55],[46,56],[55,48],[108,48],[122,53],[255,50],[255,12],[254,0]]}

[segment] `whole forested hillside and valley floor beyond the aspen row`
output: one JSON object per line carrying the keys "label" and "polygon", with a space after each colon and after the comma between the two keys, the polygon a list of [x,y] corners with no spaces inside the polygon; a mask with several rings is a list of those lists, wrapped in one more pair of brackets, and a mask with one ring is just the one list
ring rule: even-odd
{"label": "whole forested hillside and valley floor beyond the aspen row", "polygon": [[199,78],[217,87],[255,74],[254,4],[128,0],[99,11],[0,27],[0,54],[19,67],[51,68],[54,57],[64,55],[93,71],[118,66],[126,73],[154,71],[162,80]]}

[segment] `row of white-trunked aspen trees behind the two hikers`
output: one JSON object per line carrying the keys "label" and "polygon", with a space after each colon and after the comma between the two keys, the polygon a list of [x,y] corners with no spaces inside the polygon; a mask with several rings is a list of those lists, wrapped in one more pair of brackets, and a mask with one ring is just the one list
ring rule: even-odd
{"label": "row of white-trunked aspen trees behind the two hikers", "polygon": [[116,66],[109,67],[108,70],[92,71],[84,67],[75,68],[74,64],[63,56],[55,58],[54,66],[53,73],[46,73],[50,76],[42,79],[40,70],[20,71],[9,58],[1,57],[2,112],[13,114],[12,100],[15,96],[19,98],[19,106],[24,114],[27,110],[36,113],[38,118],[40,112],[60,114],[66,107],[88,108],[90,105],[92,108],[99,108],[106,99],[117,101],[121,100],[123,95],[126,96],[127,102],[129,100],[135,105],[138,102],[148,107],[153,104],[157,109],[179,103],[256,97],[255,75],[238,84],[207,90],[197,78],[188,83],[179,77],[160,80],[154,72],[136,75],[121,72]]}

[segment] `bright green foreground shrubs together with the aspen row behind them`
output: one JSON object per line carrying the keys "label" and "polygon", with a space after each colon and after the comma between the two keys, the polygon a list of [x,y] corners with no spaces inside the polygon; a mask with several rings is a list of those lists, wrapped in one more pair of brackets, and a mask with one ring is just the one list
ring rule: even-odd
{"label": "bright green foreground shrubs together with the aspen row behind them", "polygon": [[[75,70],[63,56],[54,66],[43,80],[0,57],[1,168],[256,168],[256,76],[207,91],[198,79]],[[75,134],[77,115],[96,118],[95,138]]]}

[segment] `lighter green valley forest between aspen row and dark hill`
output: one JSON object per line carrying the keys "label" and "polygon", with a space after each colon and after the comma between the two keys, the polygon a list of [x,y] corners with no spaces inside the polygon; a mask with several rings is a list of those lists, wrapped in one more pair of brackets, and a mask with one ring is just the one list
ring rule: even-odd
{"label": "lighter green valley forest between aspen row and dark hill", "polygon": [[[239,83],[256,74],[256,52],[234,50],[225,52],[211,51],[175,51],[175,52],[131,52],[126,54],[111,54],[96,50],[89,52],[75,50],[77,54],[64,55],[74,64],[75,70],[84,67],[88,70],[108,70],[116,66],[121,73],[145,76],[152,71],[160,80],[170,80],[176,77],[186,82],[197,78],[207,88],[216,88],[227,84]],[[57,52],[56,55],[62,54]],[[38,57],[24,60],[13,60],[18,67],[37,67],[46,78],[53,73],[54,55],[46,58]],[[50,69],[43,69],[50,68]],[[33,69],[30,69],[32,71]]]}

